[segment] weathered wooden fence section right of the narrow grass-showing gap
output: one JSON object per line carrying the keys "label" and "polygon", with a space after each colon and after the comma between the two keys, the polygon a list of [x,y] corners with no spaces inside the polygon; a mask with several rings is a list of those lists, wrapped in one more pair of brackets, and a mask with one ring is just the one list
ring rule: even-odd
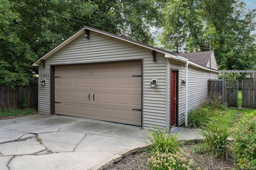
{"label": "weathered wooden fence section right of the narrow grass-showing gap", "polygon": [[242,107],[253,108],[253,80],[242,80]]}

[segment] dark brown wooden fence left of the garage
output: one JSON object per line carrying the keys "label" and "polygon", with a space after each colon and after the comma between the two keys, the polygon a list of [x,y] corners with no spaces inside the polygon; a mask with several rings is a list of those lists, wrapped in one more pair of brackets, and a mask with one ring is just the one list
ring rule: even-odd
{"label": "dark brown wooden fence left of the garage", "polygon": [[21,106],[33,106],[38,104],[38,78],[30,81],[29,86],[16,86],[10,89],[0,86],[0,110],[11,109]]}

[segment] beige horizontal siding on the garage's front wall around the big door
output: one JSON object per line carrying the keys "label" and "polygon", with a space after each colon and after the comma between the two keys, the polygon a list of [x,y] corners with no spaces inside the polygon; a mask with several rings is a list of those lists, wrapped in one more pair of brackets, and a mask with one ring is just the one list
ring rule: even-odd
{"label": "beige horizontal siding on the garage's front wall around the big door", "polygon": [[[128,43],[107,35],[90,31],[90,39],[80,35],[77,39],[46,59],[46,67],[40,64],[39,81],[46,79],[46,85],[39,85],[40,113],[50,114],[50,77],[41,78],[42,74],[50,74],[50,65],[86,64],[102,62],[119,62],[143,59],[142,80],[142,126],[150,129],[158,124],[166,127],[166,59],[162,53],[156,52],[153,62],[150,49]],[[152,78],[157,78],[157,88],[150,88]]]}

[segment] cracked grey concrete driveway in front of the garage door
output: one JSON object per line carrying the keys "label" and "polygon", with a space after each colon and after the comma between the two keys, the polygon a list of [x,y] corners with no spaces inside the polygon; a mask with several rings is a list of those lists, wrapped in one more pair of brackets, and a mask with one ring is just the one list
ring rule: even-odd
{"label": "cracked grey concrete driveway in front of the garage door", "polygon": [[58,115],[0,120],[0,170],[102,170],[145,147],[145,133]]}

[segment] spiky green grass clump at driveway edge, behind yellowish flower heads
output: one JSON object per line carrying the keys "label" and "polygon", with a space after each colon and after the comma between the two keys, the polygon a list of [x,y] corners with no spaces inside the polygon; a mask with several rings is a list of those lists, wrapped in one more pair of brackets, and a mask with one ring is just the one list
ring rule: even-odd
{"label": "spiky green grass clump at driveway edge, behind yellowish flower heads", "polygon": [[169,133],[166,133],[166,130],[162,131],[159,127],[149,131],[149,133],[146,134],[149,141],[144,141],[144,143],[150,147],[143,151],[151,152],[153,155],[155,155],[156,152],[170,152],[176,154],[178,151],[182,151],[180,146],[182,146],[184,142],[178,140],[178,133],[171,134],[171,131],[172,129]]}

